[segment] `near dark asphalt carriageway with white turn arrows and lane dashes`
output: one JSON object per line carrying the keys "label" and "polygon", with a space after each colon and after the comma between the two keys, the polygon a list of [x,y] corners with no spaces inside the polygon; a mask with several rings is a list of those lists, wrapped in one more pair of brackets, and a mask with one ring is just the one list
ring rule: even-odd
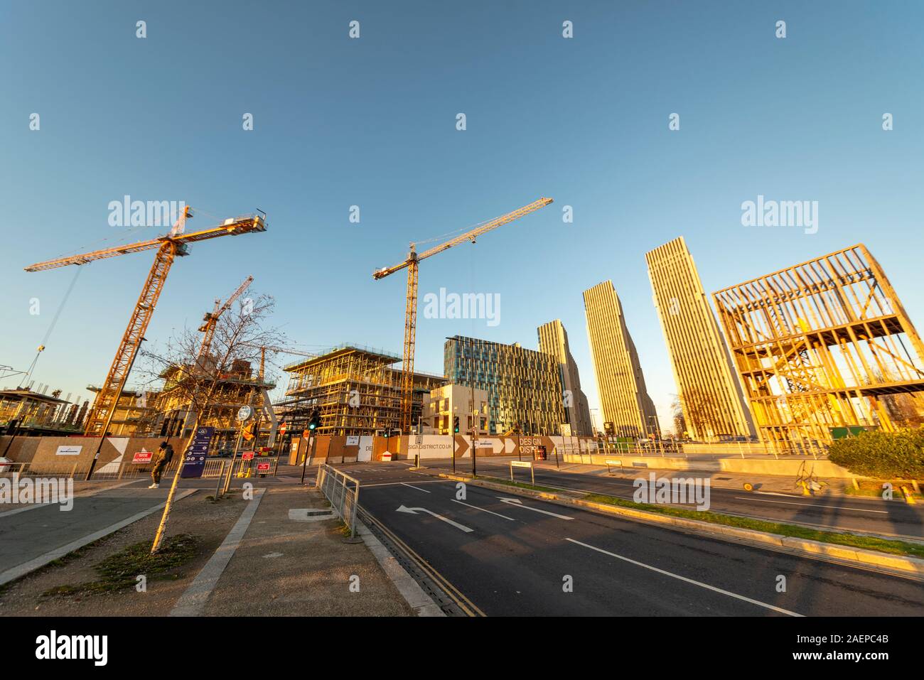
{"label": "near dark asphalt carriageway with white turn arrows and lane dashes", "polygon": [[[360,504],[371,516],[486,615],[906,616],[924,611],[924,589],[912,579],[471,485],[460,502],[456,482],[396,464],[344,469],[361,480]],[[785,592],[778,591],[780,577]]]}

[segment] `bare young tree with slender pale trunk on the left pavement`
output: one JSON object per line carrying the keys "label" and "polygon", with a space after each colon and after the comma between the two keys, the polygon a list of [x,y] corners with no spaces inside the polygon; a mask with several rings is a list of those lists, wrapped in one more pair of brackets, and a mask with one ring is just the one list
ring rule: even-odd
{"label": "bare young tree with slender pale trunk on the left pavement", "polygon": [[[259,361],[261,347],[286,344],[277,328],[266,326],[274,307],[273,297],[246,297],[219,317],[210,344],[203,344],[202,335],[187,328],[171,338],[163,352],[145,352],[151,364],[150,372],[164,380],[164,389],[181,403],[188,404],[187,423],[191,428],[179,455],[185,457],[199,423],[217,407],[215,401],[222,382],[239,367]],[[151,553],[156,553],[164,540],[182,467],[180,460]]]}

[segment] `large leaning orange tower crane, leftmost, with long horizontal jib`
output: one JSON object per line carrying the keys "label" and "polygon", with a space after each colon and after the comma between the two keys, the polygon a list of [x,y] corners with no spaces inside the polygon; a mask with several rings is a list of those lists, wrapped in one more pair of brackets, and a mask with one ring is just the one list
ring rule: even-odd
{"label": "large leaning orange tower crane, leftmost, with long horizontal jib", "polygon": [[[266,230],[266,223],[262,214],[243,215],[240,217],[229,218],[224,224],[213,226],[209,229],[186,233],[186,220],[192,217],[192,209],[186,206],[183,214],[176,221],[176,225],[170,230],[170,233],[163,237],[152,238],[138,243],[131,243],[125,246],[116,246],[103,250],[93,250],[92,252],[82,253],[80,255],[71,255],[69,257],[58,258],[38,262],[26,267],[27,272],[42,272],[46,269],[56,269],[66,267],[70,264],[86,264],[96,260],[105,260],[118,255],[128,255],[133,252],[142,250],[156,250],[154,254],[154,263],[148,278],[141,287],[141,294],[135,309],[128,320],[128,328],[122,336],[116,351],[116,358],[113,359],[109,373],[106,375],[100,391],[96,395],[90,416],[87,418],[85,434],[105,436],[109,421],[112,419],[113,412],[118,403],[118,397],[125,388],[128,380],[128,372],[138,353],[144,332],[151,322],[154,307],[157,305],[157,299],[161,295],[166,281],[167,273],[176,257],[188,255],[188,244],[196,241],[204,241],[210,238],[237,236],[239,234],[249,234],[251,232],[261,232]],[[102,440],[101,440],[102,441]]]}

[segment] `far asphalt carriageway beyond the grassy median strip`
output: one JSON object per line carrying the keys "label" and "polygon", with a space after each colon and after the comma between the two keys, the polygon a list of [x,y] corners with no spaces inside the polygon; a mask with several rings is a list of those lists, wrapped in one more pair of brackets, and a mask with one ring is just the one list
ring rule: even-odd
{"label": "far asphalt carriageway beyond the grassy median strip", "polygon": [[[510,458],[478,459],[480,475],[509,479]],[[425,460],[423,464],[432,470],[449,472],[452,459]],[[574,468],[574,466],[568,466]],[[456,469],[462,474],[471,471],[471,459],[456,460]],[[541,464],[535,468],[536,483],[540,486],[559,487],[576,491],[606,493],[631,500],[635,487],[632,481],[639,476],[648,478],[650,472],[658,477],[705,477],[715,474],[696,470],[647,470],[626,471],[614,476],[601,473],[580,473],[558,471],[554,463]],[[721,475],[720,475],[721,476]],[[529,481],[529,470],[519,470],[519,480]],[[711,486],[710,510],[735,515],[758,517],[773,521],[794,522],[821,528],[836,528],[924,540],[924,504],[908,505],[904,501],[883,501],[867,496],[821,495],[802,496],[764,492],[746,492],[743,489],[722,489]],[[896,490],[897,493],[897,490]],[[900,496],[900,493],[898,494]]]}

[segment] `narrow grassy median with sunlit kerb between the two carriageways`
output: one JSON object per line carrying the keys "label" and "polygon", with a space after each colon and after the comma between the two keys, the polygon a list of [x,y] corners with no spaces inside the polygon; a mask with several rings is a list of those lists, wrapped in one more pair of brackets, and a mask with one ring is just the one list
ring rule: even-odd
{"label": "narrow grassy median with sunlit kerb between the two carriageways", "polygon": [[[638,504],[624,498],[583,492],[561,492],[548,487],[494,478],[471,478],[441,473],[446,480],[570,505],[605,515],[622,516],[650,524],[718,535],[815,558],[875,568],[924,580],[924,546],[856,534],[820,531],[748,517],[698,512],[673,505]],[[694,519],[693,516],[698,518]]]}

